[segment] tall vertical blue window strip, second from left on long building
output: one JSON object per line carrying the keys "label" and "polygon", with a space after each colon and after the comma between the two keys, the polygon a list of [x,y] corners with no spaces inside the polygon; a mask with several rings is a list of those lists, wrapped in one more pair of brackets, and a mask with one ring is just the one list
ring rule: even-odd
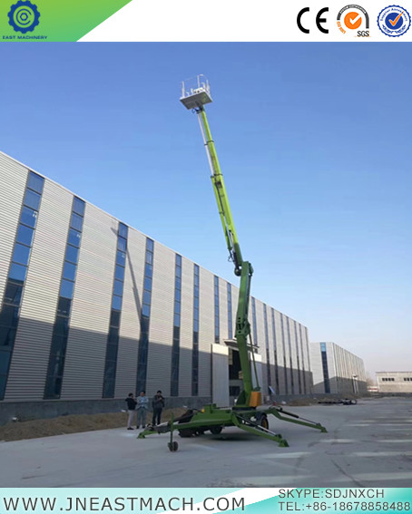
{"label": "tall vertical blue window strip, second from left on long building", "polygon": [[[74,212],[75,206],[81,206],[82,215]],[[66,240],[66,251],[63,264],[62,278],[60,281],[60,294],[57,302],[57,311],[54,319],[52,346],[49,354],[49,364],[47,366],[47,376],[44,386],[44,400],[60,398],[62,393],[62,383],[64,374],[64,360],[69,336],[70,315],[72,300],[74,296],[74,284],[77,271],[77,259],[79,257],[80,236],[83,230],[84,202],[82,199],[74,197],[72,203],[71,228]],[[76,229],[73,230],[73,219],[76,216]],[[79,234],[75,238],[76,247],[71,245],[74,240],[72,230]]]}

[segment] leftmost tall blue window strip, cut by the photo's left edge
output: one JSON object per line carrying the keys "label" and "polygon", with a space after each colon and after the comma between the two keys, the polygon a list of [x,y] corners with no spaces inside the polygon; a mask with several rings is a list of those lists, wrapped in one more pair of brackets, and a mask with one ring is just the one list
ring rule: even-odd
{"label": "leftmost tall blue window strip, cut by the photo's left edge", "polygon": [[44,178],[29,171],[0,312],[0,400],[5,398],[5,385],[15,346],[20,305],[43,188]]}

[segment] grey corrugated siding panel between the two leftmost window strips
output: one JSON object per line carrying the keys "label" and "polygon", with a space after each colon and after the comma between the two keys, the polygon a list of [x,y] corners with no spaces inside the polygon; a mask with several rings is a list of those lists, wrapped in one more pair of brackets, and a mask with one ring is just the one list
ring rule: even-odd
{"label": "grey corrugated siding panel between the two leftmost window strips", "polygon": [[64,189],[44,181],[5,393],[7,401],[43,399],[72,199]]}

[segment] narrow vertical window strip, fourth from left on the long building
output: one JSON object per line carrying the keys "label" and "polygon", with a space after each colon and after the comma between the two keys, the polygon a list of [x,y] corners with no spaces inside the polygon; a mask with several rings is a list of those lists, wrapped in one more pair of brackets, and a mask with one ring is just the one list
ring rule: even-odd
{"label": "narrow vertical window strip, fourth from left on the long building", "polygon": [[146,238],[146,254],[144,264],[141,336],[137,353],[137,393],[146,390],[147,358],[149,354],[149,325],[152,305],[152,276],[153,276],[154,244],[151,238]]}

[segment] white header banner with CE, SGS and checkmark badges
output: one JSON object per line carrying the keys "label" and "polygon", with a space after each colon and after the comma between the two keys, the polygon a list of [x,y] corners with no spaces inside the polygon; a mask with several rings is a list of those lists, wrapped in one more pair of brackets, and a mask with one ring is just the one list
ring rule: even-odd
{"label": "white header banner with CE, SGS and checkmark badges", "polygon": [[410,0],[132,0],[80,41],[410,42],[411,14]]}

